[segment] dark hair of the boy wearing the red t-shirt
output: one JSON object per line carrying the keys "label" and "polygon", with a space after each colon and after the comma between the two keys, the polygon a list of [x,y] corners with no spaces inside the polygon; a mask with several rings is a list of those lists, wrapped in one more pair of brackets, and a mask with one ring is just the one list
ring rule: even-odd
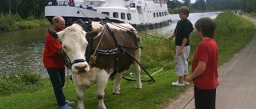
{"label": "dark hair of the boy wearing the red t-shirt", "polygon": [[214,38],[214,32],[216,29],[216,24],[213,19],[211,18],[200,18],[194,24],[195,28],[198,31],[202,31],[203,37],[210,37]]}

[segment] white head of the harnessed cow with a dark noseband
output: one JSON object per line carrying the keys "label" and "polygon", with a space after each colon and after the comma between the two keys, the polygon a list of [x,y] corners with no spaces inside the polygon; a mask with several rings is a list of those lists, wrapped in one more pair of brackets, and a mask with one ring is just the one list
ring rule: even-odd
{"label": "white head of the harnessed cow with a dark noseband", "polygon": [[63,53],[69,58],[73,73],[88,72],[89,64],[86,62],[86,32],[78,24],[73,24],[58,33],[51,34],[62,42]]}

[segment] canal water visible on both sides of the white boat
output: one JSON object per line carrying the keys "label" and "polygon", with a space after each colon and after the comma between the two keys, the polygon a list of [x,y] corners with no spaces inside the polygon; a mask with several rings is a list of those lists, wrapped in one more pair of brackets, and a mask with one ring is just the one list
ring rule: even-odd
{"label": "canal water visible on both sides of the white boat", "polygon": [[[198,18],[216,18],[219,13],[194,13],[190,14],[193,23]],[[171,33],[173,32],[178,14],[170,15],[172,23],[161,29],[148,30],[148,33]],[[42,64],[42,50],[46,28],[23,29],[7,33],[0,33],[0,74],[13,72],[34,72],[47,76],[46,69]]]}

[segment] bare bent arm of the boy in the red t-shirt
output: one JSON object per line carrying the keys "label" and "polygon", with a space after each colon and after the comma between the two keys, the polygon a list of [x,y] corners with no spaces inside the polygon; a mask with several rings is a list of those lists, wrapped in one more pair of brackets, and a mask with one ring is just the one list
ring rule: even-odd
{"label": "bare bent arm of the boy in the red t-shirt", "polygon": [[186,77],[186,80],[191,81],[197,76],[200,76],[202,72],[205,71],[205,69],[206,69],[206,62],[199,60],[197,68],[194,69],[194,72],[190,76]]}

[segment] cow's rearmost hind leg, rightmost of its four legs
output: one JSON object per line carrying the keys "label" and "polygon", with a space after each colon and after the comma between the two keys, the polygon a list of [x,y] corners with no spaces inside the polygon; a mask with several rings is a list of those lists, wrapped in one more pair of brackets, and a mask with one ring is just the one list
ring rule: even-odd
{"label": "cow's rearmost hind leg, rightmost of its four legs", "polygon": [[[141,58],[141,50],[138,49],[136,51],[135,58],[136,60],[140,61]],[[137,62],[134,61],[134,69],[135,69],[135,75],[136,75],[136,88],[142,88],[142,81],[141,81],[141,67]]]}

